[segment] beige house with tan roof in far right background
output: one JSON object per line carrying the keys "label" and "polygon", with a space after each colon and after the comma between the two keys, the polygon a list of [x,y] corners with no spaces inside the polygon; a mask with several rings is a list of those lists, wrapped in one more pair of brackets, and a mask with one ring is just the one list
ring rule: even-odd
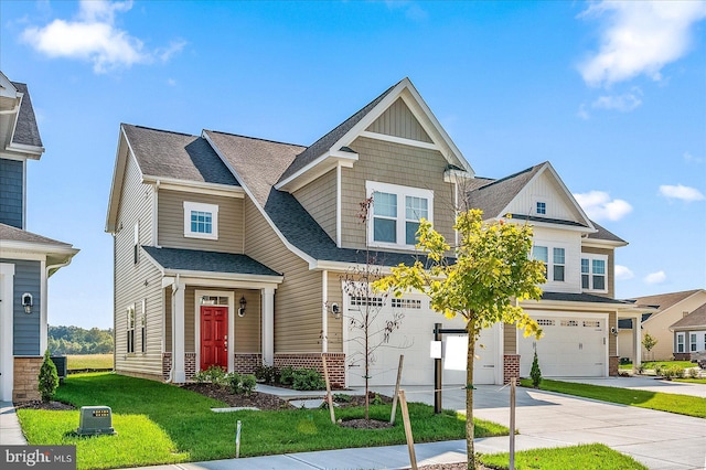
{"label": "beige house with tan roof in far right background", "polygon": [[[682,292],[660,293],[656,296],[638,297],[630,299],[635,308],[642,310],[641,335],[650,333],[657,340],[652,351],[642,349],[643,361],[671,361],[676,349],[676,335],[671,331],[672,325],[681,319],[689,316],[696,309],[706,303],[706,289],[685,290]],[[634,345],[632,337],[635,332],[634,322],[621,321],[618,344],[621,357],[632,360]],[[680,335],[680,338],[682,338]],[[702,349],[704,348],[703,338]],[[683,352],[688,352],[689,345],[684,345]]]}

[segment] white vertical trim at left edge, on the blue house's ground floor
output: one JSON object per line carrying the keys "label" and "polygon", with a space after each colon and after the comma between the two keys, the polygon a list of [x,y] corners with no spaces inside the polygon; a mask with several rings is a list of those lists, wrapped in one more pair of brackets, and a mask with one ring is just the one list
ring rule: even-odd
{"label": "white vertical trim at left edge, on the blue house's ground floor", "polygon": [[14,387],[14,265],[0,263],[0,400],[12,402]]}

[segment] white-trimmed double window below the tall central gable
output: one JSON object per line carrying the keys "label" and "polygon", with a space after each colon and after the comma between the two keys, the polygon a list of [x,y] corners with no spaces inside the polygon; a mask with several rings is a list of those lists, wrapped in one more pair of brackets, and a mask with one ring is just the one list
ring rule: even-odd
{"label": "white-trimmed double window below the tall central gable", "polygon": [[434,191],[367,181],[373,206],[367,224],[370,246],[414,248],[419,221],[432,222]]}

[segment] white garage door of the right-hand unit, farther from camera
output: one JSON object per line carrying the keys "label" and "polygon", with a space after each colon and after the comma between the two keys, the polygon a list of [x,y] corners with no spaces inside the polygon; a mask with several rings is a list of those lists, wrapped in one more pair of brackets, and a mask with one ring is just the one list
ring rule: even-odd
{"label": "white garage door of the right-hand unit, farther from camera", "polygon": [[607,316],[532,313],[541,340],[520,335],[520,375],[530,376],[534,349],[544,377],[602,377],[608,373]]}

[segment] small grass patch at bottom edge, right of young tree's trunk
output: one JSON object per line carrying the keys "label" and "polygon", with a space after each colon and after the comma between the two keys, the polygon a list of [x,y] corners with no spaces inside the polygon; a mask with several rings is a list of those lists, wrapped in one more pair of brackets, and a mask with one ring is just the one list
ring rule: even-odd
{"label": "small grass patch at bottom edge, right of young tree's trunk", "polygon": [[[481,456],[481,462],[495,469],[510,468],[509,453],[493,453]],[[603,470],[603,469],[635,469],[646,470],[646,467],[633,458],[603,446],[590,444],[555,449],[532,449],[515,453],[515,469],[542,470]]]}

